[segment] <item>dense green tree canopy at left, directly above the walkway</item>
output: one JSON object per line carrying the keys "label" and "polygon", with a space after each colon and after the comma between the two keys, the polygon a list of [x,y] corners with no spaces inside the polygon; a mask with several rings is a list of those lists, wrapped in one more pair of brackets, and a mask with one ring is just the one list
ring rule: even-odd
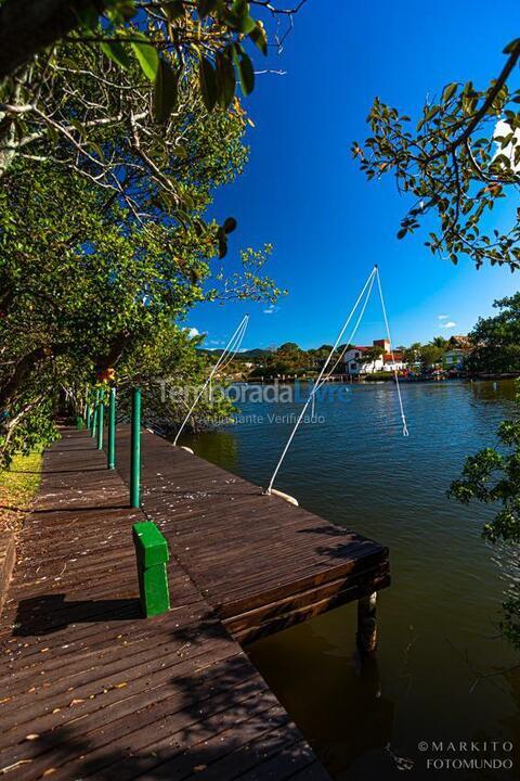
{"label": "dense green tree canopy at left, directly above the walkway", "polygon": [[[115,65],[114,74],[110,64],[105,67],[107,79],[117,74],[128,76]],[[246,119],[236,100],[229,108],[208,112],[193,88],[197,78],[186,71],[177,111],[161,131],[166,143],[182,146],[183,154],[177,150],[161,158],[157,172],[134,162],[138,150],[128,146],[125,135],[128,106],[121,108],[121,125],[95,129],[100,149],[94,154],[113,162],[114,187],[103,182],[94,162],[74,152],[74,138],[53,141],[44,135],[37,141],[38,155],[18,150],[10,159],[0,192],[3,460],[52,435],[58,396],[80,407],[87,386],[114,366],[125,384],[138,370],[135,356],[150,353],[156,341],[171,348],[169,375],[181,363],[199,373],[206,362],[187,359],[194,345],[176,324],[195,303],[274,300],[278,295],[262,271],[270,245],[246,248],[225,266],[212,261],[225,255],[235,222],[229,218],[219,227],[203,217],[214,189],[244,168]],[[60,89],[69,117],[77,114],[72,106],[78,90],[83,101],[99,99],[95,80],[87,79],[81,88],[78,82],[70,95],[63,82]],[[151,154],[157,154],[152,125],[142,130]],[[83,140],[93,143],[91,136]],[[178,210],[173,193],[182,193]],[[176,369],[178,353],[184,358]]]}

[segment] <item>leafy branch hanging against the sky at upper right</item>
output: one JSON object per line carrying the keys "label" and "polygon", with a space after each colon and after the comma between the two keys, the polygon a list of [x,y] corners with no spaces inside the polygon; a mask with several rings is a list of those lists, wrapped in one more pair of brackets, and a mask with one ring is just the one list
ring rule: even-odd
{"label": "leafy branch hanging against the sky at upper right", "polygon": [[520,209],[511,225],[487,230],[485,217],[520,184],[520,89],[508,87],[520,59],[520,39],[509,43],[506,63],[486,89],[453,82],[427,103],[414,130],[412,119],[375,99],[372,137],[352,153],[368,179],[392,172],[400,192],[414,197],[398,238],[414,232],[430,213],[440,229],[426,245],[456,264],[468,255],[484,263],[520,267]]}

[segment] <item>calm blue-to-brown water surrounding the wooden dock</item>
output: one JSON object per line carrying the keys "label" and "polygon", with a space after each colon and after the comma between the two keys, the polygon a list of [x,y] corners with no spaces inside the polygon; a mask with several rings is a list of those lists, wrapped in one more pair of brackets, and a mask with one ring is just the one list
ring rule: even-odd
{"label": "calm blue-to-brown water surrounding the wooden dock", "polygon": [[[302,426],[277,487],[300,503],[390,548],[393,582],[379,598],[377,663],[360,666],[355,605],[257,643],[250,656],[336,779],[520,778],[520,669],[498,636],[500,603],[520,578],[512,551],[481,538],[489,509],[445,498],[464,456],[495,441],[512,411],[510,383],[450,382],[403,387],[411,436],[401,436],[393,384],[350,386],[324,400],[320,424]],[[289,434],[268,414],[301,405],[249,404],[237,424],[192,438],[194,450],[265,485]],[[497,674],[492,675],[490,674]],[[487,676],[480,678],[480,676]],[[440,756],[420,741],[512,741],[481,754],[514,770],[426,769]]]}

